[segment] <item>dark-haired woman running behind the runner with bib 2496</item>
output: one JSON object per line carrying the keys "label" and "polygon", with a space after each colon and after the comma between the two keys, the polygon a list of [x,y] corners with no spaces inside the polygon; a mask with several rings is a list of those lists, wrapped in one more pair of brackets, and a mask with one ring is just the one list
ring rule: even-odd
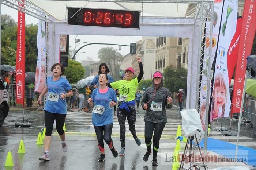
{"label": "dark-haired woman running behind the runner with bib 2496", "polygon": [[[104,73],[104,74],[108,75],[108,83],[114,82],[114,79],[108,74],[109,68],[105,63],[101,63],[99,65],[98,73],[99,74]],[[93,89],[93,88],[96,89],[97,87],[99,87],[99,74],[93,78],[93,81],[91,82],[91,86],[90,86],[91,89]]]}

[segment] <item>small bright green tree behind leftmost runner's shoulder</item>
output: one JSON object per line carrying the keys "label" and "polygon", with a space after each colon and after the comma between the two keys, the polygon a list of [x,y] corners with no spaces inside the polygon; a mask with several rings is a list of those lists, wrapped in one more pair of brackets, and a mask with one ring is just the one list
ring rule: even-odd
{"label": "small bright green tree behind leftmost runner's shoulder", "polygon": [[65,76],[70,84],[76,84],[80,79],[84,78],[84,67],[78,61],[68,59],[68,67],[65,68]]}

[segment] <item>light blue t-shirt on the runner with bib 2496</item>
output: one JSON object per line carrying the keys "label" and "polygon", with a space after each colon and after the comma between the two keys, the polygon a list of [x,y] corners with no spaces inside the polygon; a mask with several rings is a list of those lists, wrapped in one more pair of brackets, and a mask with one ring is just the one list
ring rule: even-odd
{"label": "light blue t-shirt on the runner with bib 2496", "polygon": [[[93,90],[91,94],[91,98],[93,99],[94,106],[95,105],[102,105],[105,107],[105,111],[102,115],[98,113],[93,113],[93,125],[95,126],[104,126],[110,123],[113,123],[113,112],[112,109],[109,109],[109,99],[114,102],[117,102],[116,93],[113,89],[108,88],[106,93],[100,93],[99,88]],[[114,108],[113,108],[114,109]]]}

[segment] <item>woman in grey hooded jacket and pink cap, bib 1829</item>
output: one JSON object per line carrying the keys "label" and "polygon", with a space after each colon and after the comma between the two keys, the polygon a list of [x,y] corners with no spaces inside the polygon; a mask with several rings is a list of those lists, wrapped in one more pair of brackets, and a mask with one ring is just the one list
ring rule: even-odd
{"label": "woman in grey hooded jacket and pink cap, bib 1829", "polygon": [[148,160],[151,154],[151,139],[153,136],[153,159],[152,165],[156,166],[157,152],[159,148],[159,141],[163,132],[163,128],[167,123],[165,107],[172,108],[172,98],[169,96],[170,91],[163,87],[163,75],[157,71],[153,75],[152,87],[148,87],[143,95],[142,108],[146,110],[144,116],[145,121],[145,143],[147,152],[143,157],[144,161]]}

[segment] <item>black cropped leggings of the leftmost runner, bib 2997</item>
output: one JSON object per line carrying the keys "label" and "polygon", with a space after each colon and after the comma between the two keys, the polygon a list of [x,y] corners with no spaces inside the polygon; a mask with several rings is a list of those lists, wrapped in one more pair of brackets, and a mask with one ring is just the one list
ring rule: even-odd
{"label": "black cropped leggings of the leftmost runner, bib 2997", "polygon": [[56,129],[59,135],[64,134],[63,125],[65,123],[66,114],[50,113],[45,111],[45,136],[52,136],[52,128],[54,120],[56,120]]}

